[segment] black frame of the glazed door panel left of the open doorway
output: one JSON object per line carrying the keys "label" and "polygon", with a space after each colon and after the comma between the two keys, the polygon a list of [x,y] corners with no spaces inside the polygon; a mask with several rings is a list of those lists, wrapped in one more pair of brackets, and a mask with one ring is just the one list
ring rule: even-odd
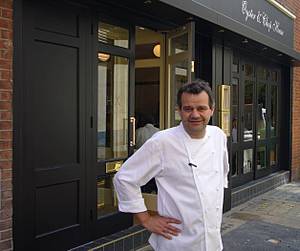
{"label": "black frame of the glazed door panel left of the open doorway", "polygon": [[[122,28],[128,29],[129,31],[129,48],[121,48],[113,45],[108,45],[98,42],[98,22],[102,21],[108,24],[117,25]],[[98,72],[97,72],[97,53],[99,51],[104,53],[109,53],[114,56],[126,57],[128,58],[128,157],[133,154],[134,146],[130,145],[130,141],[133,139],[134,128],[130,122],[130,118],[134,117],[134,45],[135,45],[135,26],[124,21],[120,21],[118,18],[108,17],[107,14],[96,11],[93,14],[92,21],[92,50],[90,54],[90,62],[92,62],[92,87],[90,90],[91,97],[91,114],[92,114],[92,130],[88,135],[89,142],[88,147],[90,147],[90,155],[88,159],[88,166],[90,166],[90,172],[88,173],[88,182],[90,184],[88,187],[88,207],[90,209],[91,218],[91,239],[107,236],[109,234],[121,231],[122,229],[128,228],[133,223],[133,216],[128,213],[122,213],[116,211],[114,213],[108,214],[106,216],[97,217],[97,177],[108,177],[113,175],[113,173],[106,173],[106,163],[113,161],[125,160],[126,158],[112,158],[105,160],[97,160],[97,107],[98,107]]]}

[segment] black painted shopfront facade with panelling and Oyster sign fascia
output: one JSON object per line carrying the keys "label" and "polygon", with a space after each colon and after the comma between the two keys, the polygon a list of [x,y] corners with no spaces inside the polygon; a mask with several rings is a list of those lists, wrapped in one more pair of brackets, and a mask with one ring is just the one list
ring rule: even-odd
{"label": "black painted shopfront facade with panelling and Oyster sign fascia", "polygon": [[[231,99],[230,106],[241,108],[236,113],[240,121],[239,140],[234,142],[232,134],[228,137],[231,186],[225,191],[225,210],[231,208],[231,188],[290,169],[291,57],[300,58],[292,48],[293,22],[265,1],[262,1],[263,6],[254,6],[255,10],[270,11],[271,16],[275,15],[286,25],[280,26],[286,36],[280,41],[278,30],[266,38],[262,35],[265,27],[255,30],[256,26],[250,24],[252,29],[245,28],[242,12],[231,25],[231,21],[224,18],[236,13],[234,8],[226,9],[229,4],[190,1],[184,9],[175,8],[181,6],[181,2],[15,1],[14,119],[17,123],[13,220],[16,250],[66,250],[132,225],[132,217],[127,214],[97,217],[97,179],[109,176],[107,162],[126,159],[126,156],[97,159],[100,102],[97,99],[97,53],[101,51],[128,60],[128,118],[135,116],[136,26],[167,36],[168,31],[193,22],[193,77],[209,81],[217,100],[219,85],[227,84],[231,90],[238,85],[238,100]],[[233,2],[240,9],[243,1]],[[193,8],[195,4],[197,7]],[[207,8],[209,12],[205,12]],[[221,19],[219,13],[223,9]],[[221,20],[225,20],[224,25]],[[127,29],[128,48],[100,43],[97,40],[99,21]],[[252,35],[257,32],[255,39]],[[247,43],[243,43],[245,39]],[[251,68],[249,74],[247,67]],[[269,75],[260,74],[261,69]],[[249,83],[254,117],[250,126],[252,140],[244,141],[246,105],[249,104],[249,95],[245,92]],[[272,103],[268,97],[274,90],[276,102]],[[265,95],[264,107],[268,111],[264,118],[267,121],[264,138],[258,137],[260,127],[255,123],[255,116],[261,111],[260,103],[256,102],[260,93]],[[273,108],[276,114],[269,112]],[[232,123],[232,113],[230,116]],[[271,126],[272,116],[276,116],[276,135],[273,135],[275,127]],[[212,124],[220,123],[216,115]],[[134,146],[129,143],[134,133],[129,121],[128,128],[127,156],[134,152]],[[277,159],[271,163],[270,151],[274,146]],[[268,168],[252,166],[251,171],[243,173],[244,150],[247,149],[252,149],[252,165],[257,165],[261,158],[256,150],[265,149]]]}

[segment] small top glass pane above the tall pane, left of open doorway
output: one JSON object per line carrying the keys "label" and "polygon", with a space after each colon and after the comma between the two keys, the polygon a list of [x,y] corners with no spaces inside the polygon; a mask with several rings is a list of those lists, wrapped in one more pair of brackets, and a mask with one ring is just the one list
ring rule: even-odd
{"label": "small top glass pane above the tall pane, left of open doorway", "polygon": [[120,26],[99,22],[98,41],[105,44],[128,48],[129,31]]}

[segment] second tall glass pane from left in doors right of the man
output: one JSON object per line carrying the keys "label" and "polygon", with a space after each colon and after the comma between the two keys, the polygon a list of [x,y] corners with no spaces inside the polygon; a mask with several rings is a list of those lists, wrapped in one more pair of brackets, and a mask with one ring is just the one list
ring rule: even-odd
{"label": "second tall glass pane from left in doors right of the man", "polygon": [[253,139],[253,81],[245,81],[244,95],[244,141]]}

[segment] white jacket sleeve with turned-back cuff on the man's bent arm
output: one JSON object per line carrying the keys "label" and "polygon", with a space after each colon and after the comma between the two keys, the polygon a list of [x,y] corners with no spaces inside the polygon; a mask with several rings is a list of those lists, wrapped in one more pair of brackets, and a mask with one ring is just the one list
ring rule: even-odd
{"label": "white jacket sleeve with turned-back cuff on the man's bent arm", "polygon": [[114,177],[121,212],[147,211],[140,187],[162,171],[161,156],[159,144],[151,138],[122,165]]}

